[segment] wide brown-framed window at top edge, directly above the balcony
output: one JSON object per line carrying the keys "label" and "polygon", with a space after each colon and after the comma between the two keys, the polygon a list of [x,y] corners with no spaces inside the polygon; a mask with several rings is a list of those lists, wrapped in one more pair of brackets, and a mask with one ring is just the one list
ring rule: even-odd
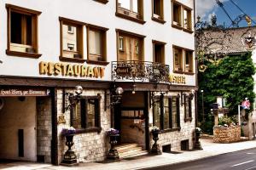
{"label": "wide brown-framed window at top edge, directly above the balcony", "polygon": [[145,23],[143,21],[143,0],[116,0],[116,2],[117,16],[140,24]]}

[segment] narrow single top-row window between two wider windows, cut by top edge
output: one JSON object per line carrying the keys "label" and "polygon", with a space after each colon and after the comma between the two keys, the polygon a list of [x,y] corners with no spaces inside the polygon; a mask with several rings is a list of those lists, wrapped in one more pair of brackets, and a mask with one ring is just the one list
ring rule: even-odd
{"label": "narrow single top-row window between two wider windows, cut by top edge", "polygon": [[164,2],[163,0],[152,0],[152,20],[164,24]]}

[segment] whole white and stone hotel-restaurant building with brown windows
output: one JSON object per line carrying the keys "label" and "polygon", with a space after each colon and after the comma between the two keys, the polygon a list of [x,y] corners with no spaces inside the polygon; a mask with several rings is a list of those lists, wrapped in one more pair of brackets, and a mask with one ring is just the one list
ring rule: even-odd
{"label": "whole white and stone hotel-restaurant building with brown windows", "polygon": [[[110,127],[119,144],[150,150],[154,125],[163,130],[160,150],[192,149],[194,3],[1,1],[0,159],[60,164],[61,129],[71,125],[79,162],[106,159]],[[70,111],[77,85],[84,90]]]}

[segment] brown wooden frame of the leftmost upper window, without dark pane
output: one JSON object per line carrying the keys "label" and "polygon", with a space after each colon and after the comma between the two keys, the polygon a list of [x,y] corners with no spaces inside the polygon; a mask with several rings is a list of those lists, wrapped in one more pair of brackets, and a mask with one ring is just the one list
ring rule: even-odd
{"label": "brown wooden frame of the leftmost upper window, without dark pane", "polygon": [[[38,54],[38,16],[42,13],[40,11],[32,10],[29,8],[23,8],[19,6],[15,6],[9,3],[6,3],[5,8],[7,9],[7,49],[6,54],[15,55],[20,57],[28,57],[28,58],[39,58],[42,54]],[[20,52],[11,49],[11,13],[15,12],[18,14],[29,15],[32,17],[32,45],[34,52]],[[25,48],[25,44],[20,44],[20,47]]]}

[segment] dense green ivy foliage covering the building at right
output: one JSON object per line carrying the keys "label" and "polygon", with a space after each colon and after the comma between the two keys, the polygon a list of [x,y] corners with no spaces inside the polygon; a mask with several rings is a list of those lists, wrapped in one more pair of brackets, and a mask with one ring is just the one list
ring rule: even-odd
{"label": "dense green ivy foliage covering the building at right", "polygon": [[[248,98],[253,103],[254,65],[252,54],[236,54],[224,57],[214,65],[205,62],[207,70],[199,72],[199,92],[203,90],[203,102],[205,114],[210,113],[212,103],[216,103],[217,96],[226,98],[226,106],[230,109],[229,115],[237,114],[237,105]],[[202,93],[198,96],[199,111],[201,112]],[[251,107],[252,110],[252,107]],[[201,115],[201,114],[200,114]]]}

